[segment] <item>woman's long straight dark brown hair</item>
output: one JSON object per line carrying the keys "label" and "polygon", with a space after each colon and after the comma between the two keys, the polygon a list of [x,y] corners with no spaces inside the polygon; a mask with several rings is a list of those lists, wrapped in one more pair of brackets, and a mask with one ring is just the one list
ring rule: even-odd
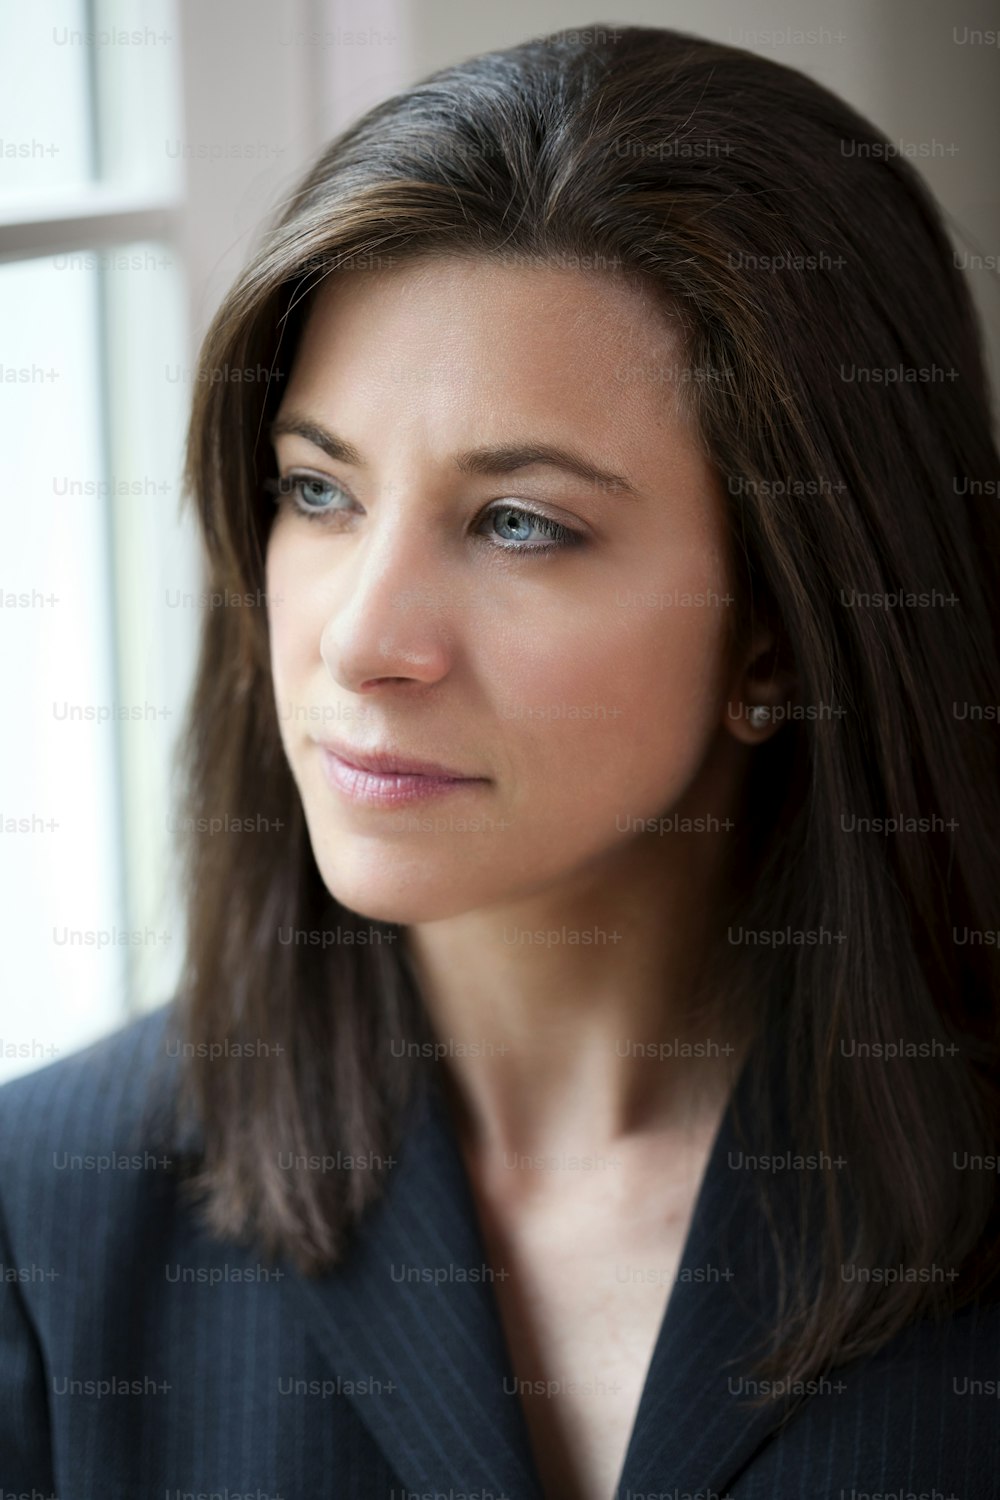
{"label": "woman's long straight dark brown hair", "polygon": [[[447,68],[322,152],[204,340],[186,474],[220,597],[264,597],[264,435],[310,292],[435,254],[606,267],[687,327],[744,618],[778,626],[801,708],[754,752],[721,916],[844,934],[712,957],[733,1028],[786,1029],[796,1138],[852,1164],[759,1366],[805,1380],[997,1272],[996,1174],[955,1167],[999,1134],[1000,464],[970,296],[921,177],[790,68],[648,27]],[[205,612],[183,772],[192,1186],[214,1233],[315,1274],[382,1178],[279,1155],[387,1155],[423,1066],[388,1040],[429,1032],[400,933],[319,878],[261,608]],[[757,1114],[772,1088],[760,1066]],[[849,1258],[961,1275],[846,1284]]]}

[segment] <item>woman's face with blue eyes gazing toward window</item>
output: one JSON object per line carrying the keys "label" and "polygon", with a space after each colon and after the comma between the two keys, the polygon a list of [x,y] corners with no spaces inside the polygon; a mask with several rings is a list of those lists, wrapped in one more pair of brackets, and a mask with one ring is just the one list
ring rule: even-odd
{"label": "woman's face with blue eyes gazing toward window", "polygon": [[[282,741],[346,908],[558,894],[630,843],[682,848],[637,820],[706,812],[735,602],[679,350],[643,294],[576,268],[438,258],[321,288],[277,414],[312,435],[274,435],[307,478],[267,592]],[[543,447],[628,489],[517,452]],[[324,741],[471,780],[391,801]]]}

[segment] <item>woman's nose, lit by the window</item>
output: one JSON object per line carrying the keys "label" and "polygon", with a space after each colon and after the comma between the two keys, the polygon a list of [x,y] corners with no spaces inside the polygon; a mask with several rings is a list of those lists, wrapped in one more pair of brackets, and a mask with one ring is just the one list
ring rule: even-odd
{"label": "woman's nose, lit by the window", "polygon": [[429,684],[448,672],[457,579],[442,548],[439,528],[397,510],[369,519],[333,562],[319,654],[342,688]]}

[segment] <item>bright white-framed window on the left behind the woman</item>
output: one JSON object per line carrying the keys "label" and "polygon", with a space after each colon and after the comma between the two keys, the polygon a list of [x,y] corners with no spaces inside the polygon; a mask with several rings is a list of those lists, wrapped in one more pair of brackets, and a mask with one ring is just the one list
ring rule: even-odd
{"label": "bright white-framed window on the left behind the woman", "polygon": [[177,36],[171,0],[0,21],[0,1078],[165,999],[183,946],[169,778],[198,554],[178,514]]}

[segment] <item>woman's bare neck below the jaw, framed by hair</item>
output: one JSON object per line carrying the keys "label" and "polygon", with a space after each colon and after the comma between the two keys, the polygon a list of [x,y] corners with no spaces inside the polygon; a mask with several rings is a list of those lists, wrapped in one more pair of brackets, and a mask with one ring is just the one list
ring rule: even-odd
{"label": "woman's bare neck below the jaw, framed by hair", "polygon": [[691,996],[723,840],[642,834],[559,891],[406,928],[469,1152],[586,1154],[718,1113],[744,1041]]}

